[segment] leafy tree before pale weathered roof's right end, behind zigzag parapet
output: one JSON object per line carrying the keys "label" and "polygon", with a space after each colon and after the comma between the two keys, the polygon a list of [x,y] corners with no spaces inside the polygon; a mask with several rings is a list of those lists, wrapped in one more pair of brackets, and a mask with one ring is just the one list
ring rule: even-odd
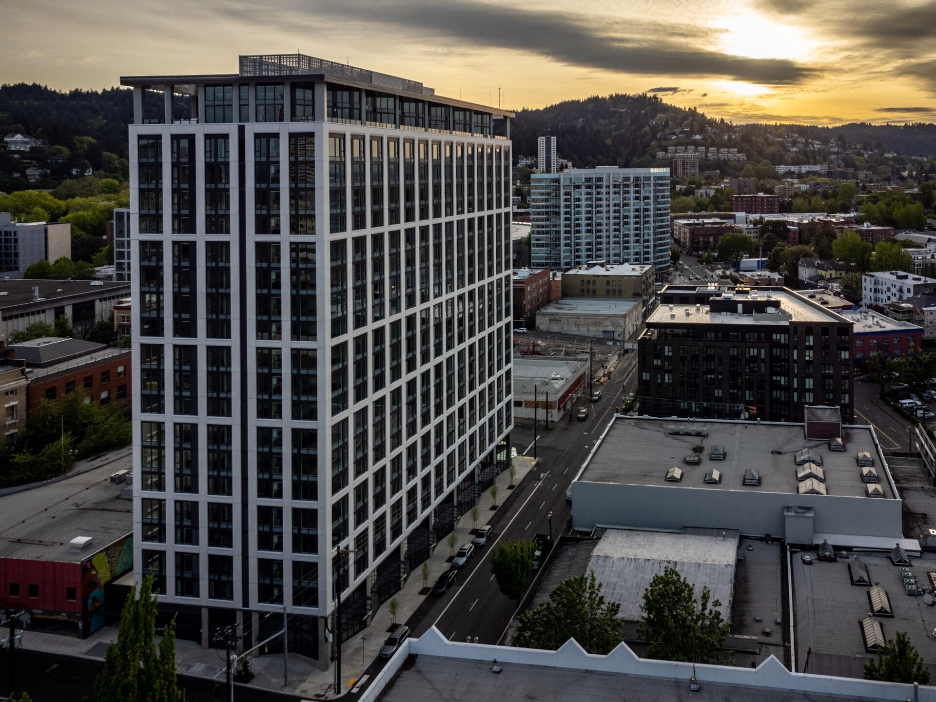
{"label": "leafy tree before pale weathered roof's right end, behind zigzag parapet", "polygon": [[637,635],[650,643],[648,655],[665,661],[722,663],[731,623],[722,619],[721,601],[709,604],[710,598],[709,588],[703,587],[696,599],[693,586],[676,568],[653,576],[637,627]]}

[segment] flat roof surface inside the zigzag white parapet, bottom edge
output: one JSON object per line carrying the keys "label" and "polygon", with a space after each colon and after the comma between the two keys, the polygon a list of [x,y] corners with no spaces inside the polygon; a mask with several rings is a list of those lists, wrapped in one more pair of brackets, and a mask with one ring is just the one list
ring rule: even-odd
{"label": "flat roof surface inside the zigzag white parapet, bottom edge", "polygon": [[415,665],[402,669],[378,699],[382,702],[529,702],[534,699],[549,702],[831,702],[843,699],[713,682],[706,682],[698,692],[692,692],[687,680],[545,665],[503,664],[501,673],[494,675],[490,667],[490,661],[419,655]]}

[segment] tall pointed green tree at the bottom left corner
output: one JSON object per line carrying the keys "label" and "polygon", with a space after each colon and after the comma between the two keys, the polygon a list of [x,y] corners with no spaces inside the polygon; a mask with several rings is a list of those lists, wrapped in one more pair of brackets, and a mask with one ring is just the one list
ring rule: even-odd
{"label": "tall pointed green tree at the bottom left corner", "polygon": [[117,642],[104,656],[91,702],[184,702],[176,681],[175,617],[156,643],[153,576],[130,587],[121,613]]}

